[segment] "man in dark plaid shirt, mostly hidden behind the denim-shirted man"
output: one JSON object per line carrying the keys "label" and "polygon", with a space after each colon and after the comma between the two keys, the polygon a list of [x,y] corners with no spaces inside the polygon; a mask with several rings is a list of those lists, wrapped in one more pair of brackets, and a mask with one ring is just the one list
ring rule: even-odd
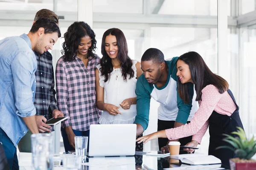
{"label": "man in dark plaid shirt, mostly hidden behind the denim-shirted man", "polygon": [[[41,18],[49,18],[58,25],[58,15],[48,9],[41,9],[35,14],[35,21]],[[37,60],[38,68],[35,72],[36,91],[34,105],[36,108],[36,122],[38,131],[41,133],[54,131],[54,126],[45,124],[52,117],[64,116],[58,107],[55,99],[54,90],[54,72],[52,66],[52,55],[47,51],[44,54],[39,54],[34,51]],[[31,135],[28,130],[26,135],[20,139],[18,148],[20,152],[31,152]]]}

